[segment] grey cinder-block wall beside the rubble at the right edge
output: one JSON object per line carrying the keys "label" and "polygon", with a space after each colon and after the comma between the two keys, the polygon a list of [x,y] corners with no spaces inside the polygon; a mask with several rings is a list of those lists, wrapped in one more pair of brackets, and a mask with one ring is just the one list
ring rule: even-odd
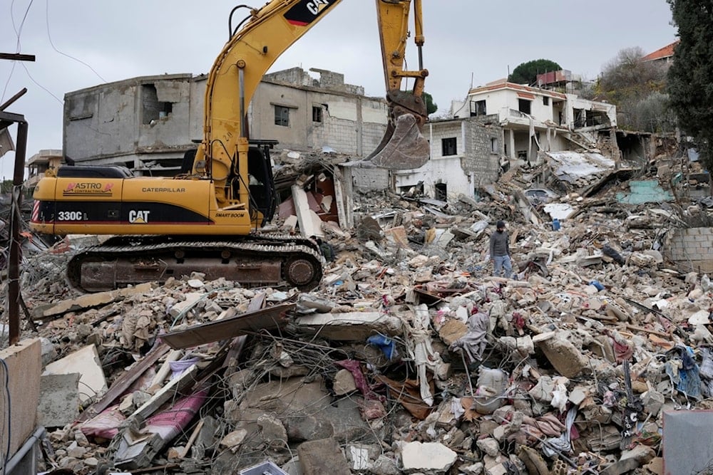
{"label": "grey cinder-block wall beside the rubble at the right edge", "polygon": [[713,228],[677,229],[665,254],[681,271],[713,273]]}

